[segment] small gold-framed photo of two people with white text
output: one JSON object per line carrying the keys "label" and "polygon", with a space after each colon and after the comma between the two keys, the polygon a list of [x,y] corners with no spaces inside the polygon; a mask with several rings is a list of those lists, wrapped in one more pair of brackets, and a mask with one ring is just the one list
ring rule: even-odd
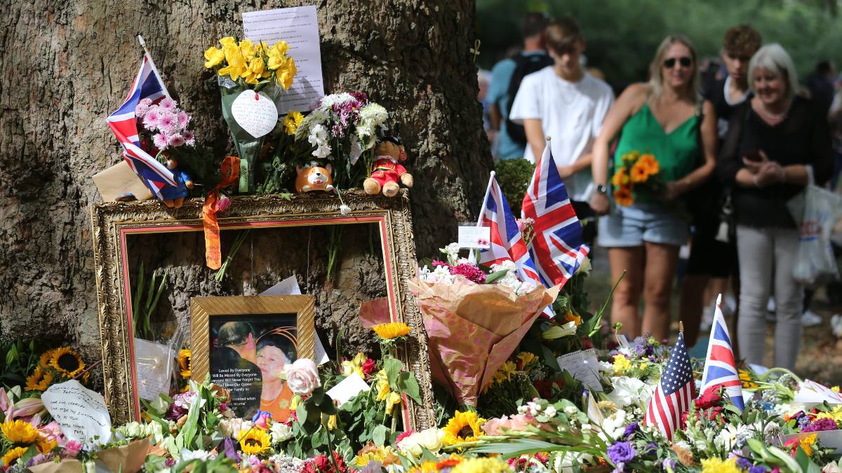
{"label": "small gold-framed photo of two people with white text", "polygon": [[292,391],[281,378],[286,364],[313,359],[312,295],[194,297],[192,373],[231,392],[237,417],[259,411],[290,416]]}

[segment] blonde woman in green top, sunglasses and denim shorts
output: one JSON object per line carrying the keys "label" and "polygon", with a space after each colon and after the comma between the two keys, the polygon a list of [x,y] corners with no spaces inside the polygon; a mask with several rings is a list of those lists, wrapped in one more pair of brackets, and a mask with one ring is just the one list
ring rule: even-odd
{"label": "blonde woman in green top, sunglasses and denim shorts", "polygon": [[[605,116],[594,141],[597,192],[590,206],[598,215],[606,215],[600,218],[599,242],[609,248],[612,279],[627,271],[614,293],[611,322],[621,322],[622,332],[629,337],[651,332],[661,340],[669,337],[669,296],[679,247],[689,236],[688,222],[670,202],[711,176],[717,119],[709,102],[699,106],[695,50],[684,36],[663,40],[649,73],[649,82],[626,88]],[[703,150],[699,149],[700,130]],[[653,154],[666,189],[660,195],[636,194],[632,205],[614,206],[607,215],[612,207],[606,188],[608,146],[620,131],[616,162],[628,151]],[[641,295],[642,322],[637,314]]]}

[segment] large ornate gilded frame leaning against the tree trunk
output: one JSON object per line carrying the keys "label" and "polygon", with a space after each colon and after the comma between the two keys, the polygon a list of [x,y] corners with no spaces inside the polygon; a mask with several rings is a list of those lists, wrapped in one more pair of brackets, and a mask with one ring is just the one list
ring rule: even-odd
{"label": "large ornate gilded frame leaning against the tree trunk", "polygon": [[[240,341],[237,333],[246,332],[247,342],[251,334],[255,353],[247,356],[255,361],[262,342],[275,343],[277,351],[269,349],[267,353],[280,351],[285,359],[312,356],[316,332],[312,319],[304,318],[307,313],[315,313],[316,327],[336,333],[347,331],[349,322],[357,323],[365,307],[411,328],[399,356],[415,374],[423,402],[408,399],[402,404],[404,426],[413,430],[433,427],[427,338],[407,288],[417,268],[408,193],[404,190],[395,198],[386,198],[349,191],[343,198],[350,211],[340,212],[339,199],[329,194],[232,197],[230,209],[218,215],[222,256],[231,260],[222,279],[205,267],[201,199],[186,201],[179,209],[168,209],[157,200],[92,205],[104,391],[114,422],[140,417],[143,390],[139,385],[143,387],[145,370],[137,361],[140,352],[136,347],[147,344],[144,338],[178,353],[179,333],[183,339],[192,335],[191,376],[204,379],[206,373],[226,375],[222,370],[236,364],[230,350],[226,352],[228,361],[222,354],[216,355],[216,362],[212,360],[215,353],[225,352],[216,348]],[[340,232],[344,244],[338,258],[342,263],[333,280],[327,281],[324,268],[329,252],[323,242]],[[244,233],[248,235],[239,238]],[[234,255],[237,241],[242,246]],[[290,276],[296,276],[301,293],[309,294],[302,297],[309,297],[311,309],[298,306],[299,302],[285,309],[258,302],[270,300],[258,294]],[[161,287],[163,295],[157,294]],[[168,331],[156,328],[155,322],[160,321],[150,316],[150,300],[159,300],[157,312],[168,315],[171,322],[163,324]],[[198,306],[195,300],[200,300]],[[283,296],[283,300],[304,299]],[[199,330],[194,317],[200,311],[207,314],[207,322]],[[289,327],[295,327],[297,345],[292,343],[292,348],[286,343],[291,343],[293,336]],[[181,369],[184,373],[184,366]],[[252,371],[256,379],[256,371]],[[260,387],[266,397],[274,394],[263,393],[263,385]],[[256,390],[254,386],[252,391]]]}

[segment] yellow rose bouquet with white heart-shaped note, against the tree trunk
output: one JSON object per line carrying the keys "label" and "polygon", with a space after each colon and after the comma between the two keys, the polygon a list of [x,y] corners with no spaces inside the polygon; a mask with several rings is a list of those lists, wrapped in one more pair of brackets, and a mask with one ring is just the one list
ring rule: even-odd
{"label": "yellow rose bouquet with white heart-shaped note, against the tree trunk", "polygon": [[[205,67],[216,72],[225,118],[240,158],[241,193],[254,192],[254,167],[264,138],[278,121],[275,106],[296,77],[286,41],[237,41],[232,36],[205,50]],[[274,119],[274,120],[273,120]]]}

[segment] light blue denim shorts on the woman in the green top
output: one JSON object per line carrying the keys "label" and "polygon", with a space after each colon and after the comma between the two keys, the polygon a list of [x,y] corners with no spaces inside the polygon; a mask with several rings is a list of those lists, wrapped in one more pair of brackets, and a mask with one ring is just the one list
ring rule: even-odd
{"label": "light blue denim shorts on the woman in the green top", "polygon": [[600,247],[639,247],[643,242],[680,247],[690,239],[690,224],[683,212],[660,203],[638,202],[613,206],[600,217]]}

